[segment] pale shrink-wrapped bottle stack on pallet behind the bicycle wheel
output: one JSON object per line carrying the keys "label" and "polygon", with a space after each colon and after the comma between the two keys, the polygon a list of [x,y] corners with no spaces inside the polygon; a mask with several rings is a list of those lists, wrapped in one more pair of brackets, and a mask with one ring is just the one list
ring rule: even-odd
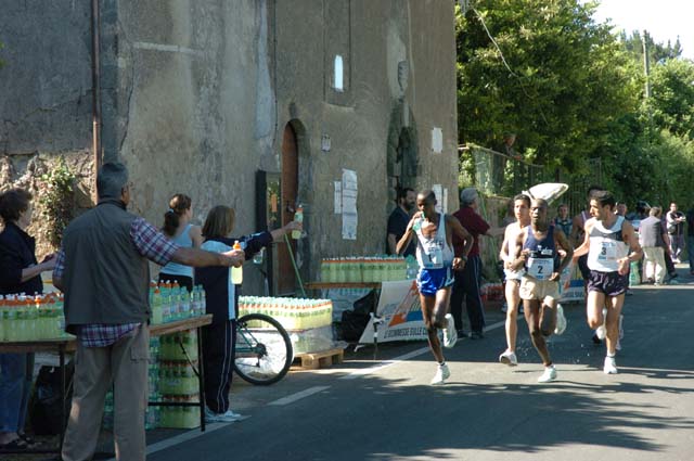
{"label": "pale shrink-wrapped bottle stack on pallet behind the bicycle wheel", "polygon": [[[265,313],[290,334],[294,354],[317,353],[333,347],[333,302],[292,297],[241,296],[239,313]],[[253,323],[248,328],[254,328]]]}

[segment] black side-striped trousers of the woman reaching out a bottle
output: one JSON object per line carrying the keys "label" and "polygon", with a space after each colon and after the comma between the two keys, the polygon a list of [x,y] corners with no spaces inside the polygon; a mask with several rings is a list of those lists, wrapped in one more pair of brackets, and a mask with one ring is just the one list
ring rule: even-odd
{"label": "black side-striped trousers of the woman reaching out a bottle", "polygon": [[205,404],[215,413],[229,410],[236,349],[236,320],[203,326]]}

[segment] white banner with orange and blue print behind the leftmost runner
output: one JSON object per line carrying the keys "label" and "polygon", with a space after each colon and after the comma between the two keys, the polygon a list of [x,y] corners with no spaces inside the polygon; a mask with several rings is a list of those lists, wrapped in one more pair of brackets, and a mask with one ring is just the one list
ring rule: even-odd
{"label": "white banner with orange and blue print behind the leftmost runner", "polygon": [[[414,280],[383,282],[376,312],[382,320],[377,324],[378,343],[427,338],[420,307],[420,292]],[[373,319],[371,319],[359,343],[373,343]]]}

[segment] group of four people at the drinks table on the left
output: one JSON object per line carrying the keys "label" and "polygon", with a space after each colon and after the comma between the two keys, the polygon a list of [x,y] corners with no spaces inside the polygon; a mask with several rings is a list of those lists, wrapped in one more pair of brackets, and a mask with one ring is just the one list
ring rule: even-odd
{"label": "group of four people at the drinks table on the left", "polygon": [[[229,407],[239,290],[230,267],[240,267],[262,247],[301,225],[233,238],[234,210],[216,206],[202,229],[191,225],[192,201],[174,195],[160,229],[127,212],[131,183],[121,164],[104,164],[97,179],[94,208],[65,229],[57,254],[36,259],[31,195],[13,189],[0,195],[0,294],[40,294],[41,272],[65,295],[65,329],[77,337],[72,408],[61,459],[86,460],[94,453],[106,393],[114,392],[116,458],[145,459],[144,415],[150,354],[150,264],[162,266],[159,280],[189,291],[193,280],[206,292],[213,322],[203,328],[205,418],[236,421]],[[232,247],[239,242],[241,249]],[[0,354],[0,447],[29,449],[23,428],[33,384],[31,354]]]}

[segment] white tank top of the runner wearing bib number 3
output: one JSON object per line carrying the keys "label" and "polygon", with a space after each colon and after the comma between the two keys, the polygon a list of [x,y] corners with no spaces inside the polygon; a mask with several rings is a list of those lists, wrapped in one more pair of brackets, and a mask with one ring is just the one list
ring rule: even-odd
{"label": "white tank top of the runner wearing bib number 3", "polygon": [[588,252],[588,268],[599,272],[616,272],[619,269],[618,259],[629,254],[629,246],[621,235],[624,216],[619,216],[615,225],[605,229],[601,221],[590,231],[590,251]]}

